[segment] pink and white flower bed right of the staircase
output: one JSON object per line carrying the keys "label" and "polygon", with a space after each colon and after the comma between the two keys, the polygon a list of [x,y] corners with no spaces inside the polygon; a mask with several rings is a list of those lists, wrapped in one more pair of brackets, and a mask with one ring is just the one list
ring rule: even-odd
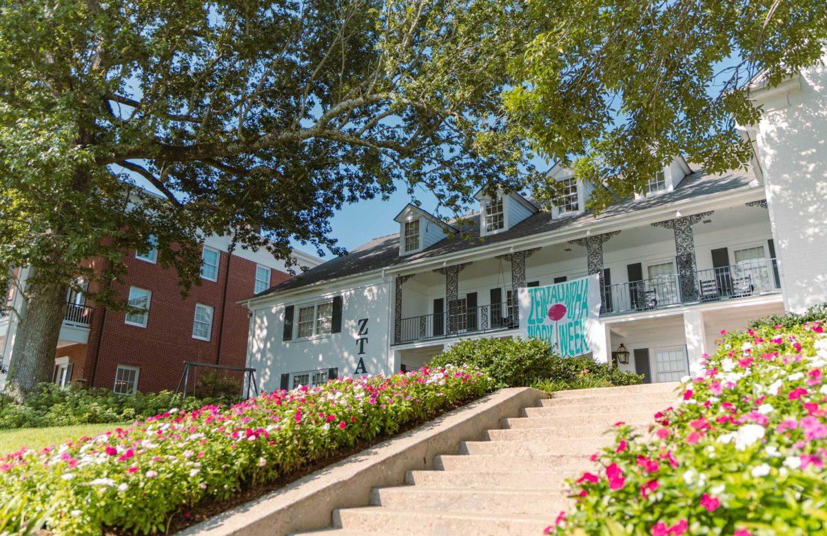
{"label": "pink and white flower bed right of the staircase", "polygon": [[724,337],[676,408],[619,424],[558,534],[825,534],[827,337],[819,322]]}

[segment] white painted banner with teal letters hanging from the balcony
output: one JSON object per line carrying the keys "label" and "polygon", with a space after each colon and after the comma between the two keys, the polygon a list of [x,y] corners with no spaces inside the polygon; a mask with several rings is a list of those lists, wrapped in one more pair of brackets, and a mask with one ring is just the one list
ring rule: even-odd
{"label": "white painted banner with teal letters hanging from the balcony", "polygon": [[548,341],[562,357],[595,351],[600,328],[597,274],[555,285],[519,289],[519,331]]}

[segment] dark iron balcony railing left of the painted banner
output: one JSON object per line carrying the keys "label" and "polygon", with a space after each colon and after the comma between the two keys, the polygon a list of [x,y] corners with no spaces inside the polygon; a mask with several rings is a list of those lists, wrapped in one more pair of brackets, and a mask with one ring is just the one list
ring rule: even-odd
{"label": "dark iron balcony railing left of the painted banner", "polygon": [[517,318],[514,306],[508,303],[471,308],[449,307],[447,313],[402,318],[399,328],[400,337],[396,343],[513,329],[517,328]]}

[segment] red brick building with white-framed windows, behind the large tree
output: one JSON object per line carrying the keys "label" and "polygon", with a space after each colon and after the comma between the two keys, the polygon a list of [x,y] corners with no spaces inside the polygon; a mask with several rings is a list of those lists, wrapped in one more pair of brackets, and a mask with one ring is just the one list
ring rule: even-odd
{"label": "red brick building with white-framed windows, behind the large tree", "polygon": [[[208,238],[200,285],[186,298],[181,297],[175,271],[161,268],[154,250],[127,252],[128,272],[115,289],[145,309],[141,314],[87,304],[82,295],[70,295],[55,353],[55,382],[129,394],[174,390],[184,361],[244,366],[249,318],[237,302],[290,275],[284,262],[267,251],[237,248],[231,255],[228,250],[229,238]],[[321,262],[300,251],[294,255],[300,266]],[[10,355],[13,347],[10,316],[4,319],[5,330],[0,324],[0,356]]]}

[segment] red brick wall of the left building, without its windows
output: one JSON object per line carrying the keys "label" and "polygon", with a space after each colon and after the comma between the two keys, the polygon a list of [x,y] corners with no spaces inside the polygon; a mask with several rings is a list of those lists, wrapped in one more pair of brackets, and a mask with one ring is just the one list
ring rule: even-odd
{"label": "red brick wall of the left building, without its windows", "polygon": [[[151,291],[146,328],[125,323],[125,313],[112,309],[104,312],[103,308],[95,307],[85,358],[78,356],[72,361],[75,363],[73,380],[84,378],[87,385],[111,389],[118,365],[137,366],[140,368],[138,390],[174,390],[184,371],[184,361],[244,366],[249,321],[246,307],[236,302],[253,294],[256,263],[232,256],[225,299],[228,258],[227,252],[222,251],[217,281],[201,278],[200,285],[194,286],[189,295],[182,298],[174,270],[136,259],[134,252],[127,254],[128,273],[123,282],[113,286],[123,299],[127,299],[131,286]],[[270,285],[287,278],[288,274],[270,270]],[[213,307],[209,341],[192,336],[195,304]],[[219,333],[222,333],[221,341]],[[76,351],[80,352],[79,349]],[[55,355],[67,354],[65,349],[59,348]],[[203,373],[203,370],[198,371],[199,375]],[[190,383],[190,388],[192,385]]]}

